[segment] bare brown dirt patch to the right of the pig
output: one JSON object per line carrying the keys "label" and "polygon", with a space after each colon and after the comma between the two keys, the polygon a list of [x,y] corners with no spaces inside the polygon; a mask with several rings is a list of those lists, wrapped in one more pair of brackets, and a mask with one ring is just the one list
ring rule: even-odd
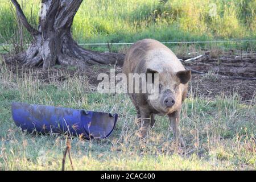
{"label": "bare brown dirt patch to the right of the pig", "polygon": [[[190,58],[190,57],[188,57]],[[183,58],[184,60],[188,59]],[[256,54],[211,56],[206,53],[198,60],[183,62],[185,68],[207,73],[192,74],[192,91],[200,96],[215,97],[238,93],[242,101],[255,98],[256,94]],[[240,80],[239,78],[249,78]]]}

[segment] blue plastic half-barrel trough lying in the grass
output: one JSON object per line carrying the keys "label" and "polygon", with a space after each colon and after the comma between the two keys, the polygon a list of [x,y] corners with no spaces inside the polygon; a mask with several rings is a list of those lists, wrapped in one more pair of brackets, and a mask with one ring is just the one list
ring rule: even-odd
{"label": "blue plastic half-barrel trough lying in the grass", "polygon": [[60,133],[86,139],[106,138],[114,130],[117,114],[63,107],[12,104],[13,120],[30,133]]}

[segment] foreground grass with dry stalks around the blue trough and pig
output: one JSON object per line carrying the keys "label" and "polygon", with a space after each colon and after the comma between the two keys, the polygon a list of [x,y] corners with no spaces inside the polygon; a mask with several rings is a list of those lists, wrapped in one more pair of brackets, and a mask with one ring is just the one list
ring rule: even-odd
{"label": "foreground grass with dry stalks around the blue trough and pig", "polygon": [[[63,135],[31,135],[16,127],[13,101],[119,114],[108,139],[71,140],[76,170],[256,169],[256,107],[241,104],[236,94],[209,100],[189,93],[181,115],[187,146],[180,149],[172,144],[166,117],[157,117],[151,134],[140,141],[129,98],[90,92],[86,77],[45,82],[32,69],[18,76],[3,63],[0,71],[0,170],[60,170],[65,148]],[[66,167],[71,169],[68,160]]]}

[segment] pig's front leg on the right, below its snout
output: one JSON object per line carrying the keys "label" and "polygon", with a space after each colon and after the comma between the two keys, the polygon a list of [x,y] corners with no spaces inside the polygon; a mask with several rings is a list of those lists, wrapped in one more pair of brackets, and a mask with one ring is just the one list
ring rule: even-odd
{"label": "pig's front leg on the right, below its snout", "polygon": [[174,133],[175,142],[179,143],[181,145],[181,147],[185,147],[185,143],[183,141],[183,138],[181,137],[180,127],[179,127],[180,109],[177,111],[174,111],[174,113],[168,114],[168,117],[170,120],[170,125],[172,127],[172,131]]}

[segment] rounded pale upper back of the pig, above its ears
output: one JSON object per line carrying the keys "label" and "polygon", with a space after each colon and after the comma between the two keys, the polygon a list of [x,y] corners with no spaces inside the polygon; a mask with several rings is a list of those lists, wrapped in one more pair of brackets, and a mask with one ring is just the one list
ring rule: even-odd
{"label": "rounded pale upper back of the pig, above its ears", "polygon": [[185,69],[168,47],[157,40],[143,39],[134,43],[127,52],[123,73],[143,73],[147,68],[159,72],[166,68],[172,72]]}

